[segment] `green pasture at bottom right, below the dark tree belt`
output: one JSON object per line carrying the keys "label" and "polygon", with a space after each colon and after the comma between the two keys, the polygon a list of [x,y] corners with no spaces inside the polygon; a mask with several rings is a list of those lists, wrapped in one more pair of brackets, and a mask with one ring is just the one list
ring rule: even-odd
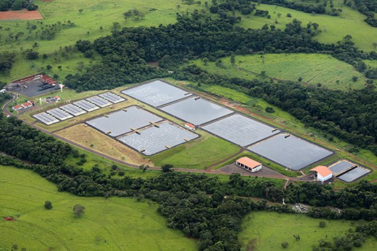
{"label": "green pasture at bottom right, below the dark tree belt", "polygon": [[[349,228],[355,228],[357,222],[346,220],[313,219],[305,215],[291,215],[287,213],[253,212],[246,215],[242,223],[239,241],[246,247],[253,245],[258,251],[284,250],[283,241],[288,242],[286,250],[309,251],[312,245],[320,239],[332,240],[334,236],[346,234]],[[325,228],[319,227],[319,222],[325,221]],[[294,234],[300,235],[300,241],[295,241]],[[355,250],[376,250],[377,243],[371,238],[362,248]]]}

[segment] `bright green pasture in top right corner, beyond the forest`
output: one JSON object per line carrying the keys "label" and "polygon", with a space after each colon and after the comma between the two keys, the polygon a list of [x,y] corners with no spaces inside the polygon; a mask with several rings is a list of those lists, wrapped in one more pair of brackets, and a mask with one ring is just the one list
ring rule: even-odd
{"label": "bright green pasture in top right corner, beyond the forest", "polygon": [[[307,2],[307,1],[306,1]],[[376,51],[376,47],[373,43],[377,42],[376,31],[377,29],[370,26],[364,19],[366,16],[360,14],[357,10],[353,10],[347,6],[343,6],[343,0],[333,1],[335,8],[342,8],[341,15],[338,17],[332,17],[330,15],[318,15],[311,13],[304,13],[298,10],[292,10],[289,8],[283,8],[280,6],[259,4],[257,9],[268,10],[270,19],[267,17],[257,17],[253,13],[249,16],[240,15],[242,21],[239,26],[245,28],[261,28],[264,24],[274,24],[276,28],[284,29],[288,22],[292,22],[295,18],[300,20],[303,25],[309,22],[316,22],[319,24],[319,29],[322,31],[314,39],[318,40],[320,43],[336,43],[341,40],[344,36],[350,35],[353,37],[355,45],[364,51]],[[290,13],[292,17],[287,17]],[[278,15],[281,14],[281,17]],[[278,24],[275,24],[275,19]]]}

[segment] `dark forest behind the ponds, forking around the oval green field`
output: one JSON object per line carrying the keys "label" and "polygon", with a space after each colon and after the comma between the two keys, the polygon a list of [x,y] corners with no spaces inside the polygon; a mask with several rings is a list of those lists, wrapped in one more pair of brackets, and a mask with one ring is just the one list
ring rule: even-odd
{"label": "dark forest behind the ponds, forking around the oval green field", "polygon": [[281,31],[274,26],[263,29],[242,29],[226,20],[198,15],[178,15],[178,22],[158,28],[138,27],[114,31],[112,36],[98,38],[94,44],[77,41],[82,52],[96,50],[103,62],[87,68],[82,75],[68,75],[65,84],[77,91],[112,89],[127,83],[171,76],[161,68],[146,65],[160,61],[162,68],[174,70],[173,77],[206,84],[220,84],[243,91],[253,97],[290,112],[306,125],[320,128],[356,146],[377,153],[377,94],[373,80],[359,91],[331,91],[303,86],[295,82],[249,81],[210,75],[194,66],[180,69],[186,59],[216,61],[230,54],[319,52],[332,54],[355,66],[365,75],[377,77],[367,69],[363,59],[377,59],[375,52],[358,51],[352,37],[346,36],[337,45],[324,45],[314,40],[318,26],[293,20]]}

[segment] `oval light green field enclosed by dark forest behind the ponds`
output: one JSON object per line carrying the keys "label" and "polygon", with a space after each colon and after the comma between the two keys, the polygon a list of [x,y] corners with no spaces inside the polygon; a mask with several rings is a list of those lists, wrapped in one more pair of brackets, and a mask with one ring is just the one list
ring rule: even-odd
{"label": "oval light green field enclosed by dark forest behind the ponds", "polygon": [[[229,57],[221,61],[222,68],[214,62],[208,62],[207,66],[200,60],[193,62],[210,73],[255,79],[265,71],[266,77],[292,81],[302,77],[303,84],[320,84],[328,89],[362,89],[367,81],[353,66],[325,54],[237,55],[234,66],[230,63]],[[357,77],[356,82],[353,82],[354,76]]]}

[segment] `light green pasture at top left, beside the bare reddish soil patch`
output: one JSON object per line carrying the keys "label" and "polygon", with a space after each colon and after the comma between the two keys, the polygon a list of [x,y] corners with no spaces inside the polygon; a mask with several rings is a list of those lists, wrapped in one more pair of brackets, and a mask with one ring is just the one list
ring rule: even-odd
{"label": "light green pasture at top left, beside the bare reddish soil patch", "polygon": [[[74,27],[61,30],[54,40],[38,40],[38,51],[50,53],[59,50],[59,47],[74,45],[79,39],[94,40],[100,36],[108,35],[112,29],[113,22],[119,22],[121,26],[158,26],[158,24],[170,24],[176,22],[176,13],[185,12],[200,8],[198,4],[191,6],[184,5],[180,0],[156,0],[156,1],[135,1],[124,0],[93,0],[93,1],[74,1],[74,0],[54,0],[54,1],[34,1],[39,6],[39,11],[45,18],[44,20],[9,20],[1,21],[3,30],[0,34],[9,32],[17,33],[24,31],[20,36],[19,42],[2,45],[1,50],[19,50],[20,47],[29,48],[34,45],[36,40],[26,40],[27,23],[36,24],[40,29],[40,22],[54,24],[70,20],[75,23]],[[204,5],[203,5],[204,6]],[[78,10],[82,9],[82,13]],[[127,10],[138,9],[145,13],[144,20],[125,20],[123,13]],[[62,11],[64,10],[64,11]],[[103,29],[100,29],[100,26]],[[89,34],[88,34],[89,31]]]}

